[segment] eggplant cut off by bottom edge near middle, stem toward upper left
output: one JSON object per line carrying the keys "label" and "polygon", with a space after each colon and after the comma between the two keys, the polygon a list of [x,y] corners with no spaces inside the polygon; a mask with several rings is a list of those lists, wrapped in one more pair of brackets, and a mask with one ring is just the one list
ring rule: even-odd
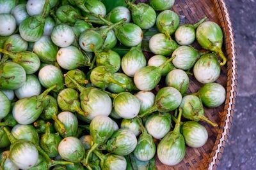
{"label": "eggplant cut off by bottom edge near middle, stem toward upper left", "polygon": [[94,153],[100,159],[101,169],[109,169],[109,170],[125,170],[126,169],[127,162],[125,160],[125,157],[120,155],[114,155],[111,153],[103,155],[98,151],[95,151]]}

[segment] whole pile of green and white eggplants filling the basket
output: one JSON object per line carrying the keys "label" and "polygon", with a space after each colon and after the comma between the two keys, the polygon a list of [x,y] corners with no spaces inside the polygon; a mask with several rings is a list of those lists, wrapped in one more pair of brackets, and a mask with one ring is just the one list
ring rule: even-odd
{"label": "whole pile of green and white eggplants filling the basket", "polygon": [[0,169],[156,169],[207,143],[223,32],[174,3],[0,0]]}

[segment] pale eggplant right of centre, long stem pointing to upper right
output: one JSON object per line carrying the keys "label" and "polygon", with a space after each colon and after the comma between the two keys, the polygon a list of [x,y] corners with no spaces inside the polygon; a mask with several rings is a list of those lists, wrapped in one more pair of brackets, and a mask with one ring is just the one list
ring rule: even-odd
{"label": "pale eggplant right of centre, long stem pointing to upper right", "polygon": [[148,91],[154,89],[159,81],[161,80],[163,68],[171,62],[173,59],[170,58],[166,60],[161,66],[146,66],[141,67],[136,73],[134,74],[134,84],[139,90]]}

